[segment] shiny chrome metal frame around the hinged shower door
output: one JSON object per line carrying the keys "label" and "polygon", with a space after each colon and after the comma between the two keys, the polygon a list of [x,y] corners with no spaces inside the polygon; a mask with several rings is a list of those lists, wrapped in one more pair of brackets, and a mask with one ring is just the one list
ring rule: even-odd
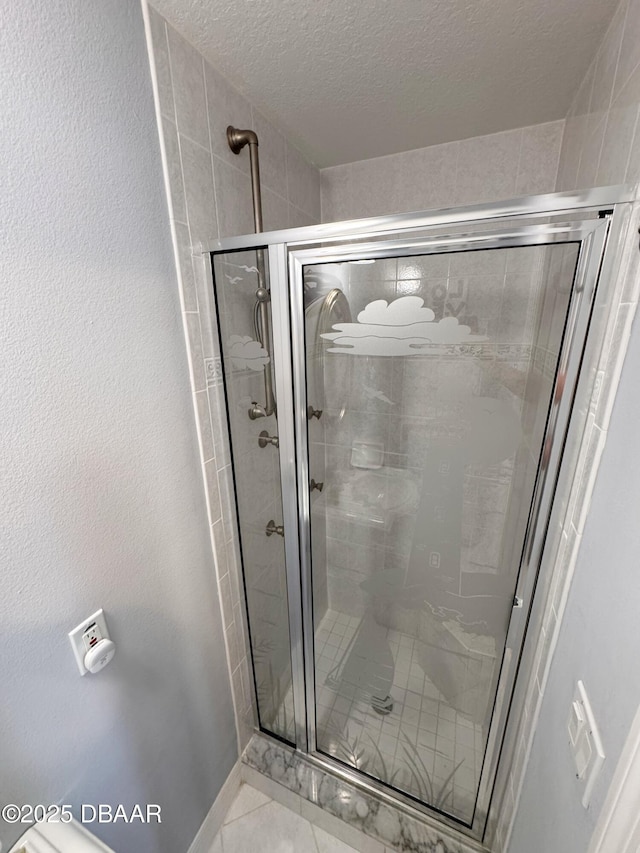
{"label": "shiny chrome metal frame around the hinged shower door", "polygon": [[[603,259],[607,269],[611,267],[611,257],[628,222],[626,203],[632,198],[632,189],[626,187],[557,193],[508,203],[233,237],[206,249],[212,256],[242,249],[268,251],[296,748],[319,766],[375,792],[385,801],[399,803],[414,814],[435,817],[479,841],[485,835],[498,773],[509,764],[510,756],[501,753],[516,679],[531,677],[530,672],[519,671],[520,660],[525,632],[537,633],[540,629],[530,618],[531,608],[596,287]],[[565,214],[567,221],[546,221]],[[526,221],[521,223],[520,219]],[[484,230],[461,230],[472,224]],[[443,227],[450,227],[452,233],[441,233]],[[467,824],[319,753],[316,747],[302,271],[306,264],[401,256],[409,249],[424,255],[576,241],[581,243],[578,266],[543,440],[543,447],[550,451],[536,477],[486,745],[488,759],[482,769],[474,817]],[[562,387],[560,375],[564,377]]]}

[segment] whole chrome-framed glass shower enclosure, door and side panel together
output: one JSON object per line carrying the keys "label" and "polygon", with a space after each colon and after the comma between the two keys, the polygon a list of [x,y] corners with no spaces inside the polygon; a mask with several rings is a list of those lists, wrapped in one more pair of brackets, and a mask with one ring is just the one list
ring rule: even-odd
{"label": "whole chrome-framed glass shower enclosure, door and side panel together", "polygon": [[477,839],[627,201],[562,193],[207,247],[257,724]]}

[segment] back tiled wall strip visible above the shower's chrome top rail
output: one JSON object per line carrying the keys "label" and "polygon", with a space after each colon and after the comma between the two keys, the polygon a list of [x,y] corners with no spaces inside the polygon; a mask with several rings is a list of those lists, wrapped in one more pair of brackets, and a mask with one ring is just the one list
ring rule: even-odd
{"label": "back tiled wall strip visible above the shower's chrome top rail", "polygon": [[322,221],[552,192],[564,121],[323,169]]}

